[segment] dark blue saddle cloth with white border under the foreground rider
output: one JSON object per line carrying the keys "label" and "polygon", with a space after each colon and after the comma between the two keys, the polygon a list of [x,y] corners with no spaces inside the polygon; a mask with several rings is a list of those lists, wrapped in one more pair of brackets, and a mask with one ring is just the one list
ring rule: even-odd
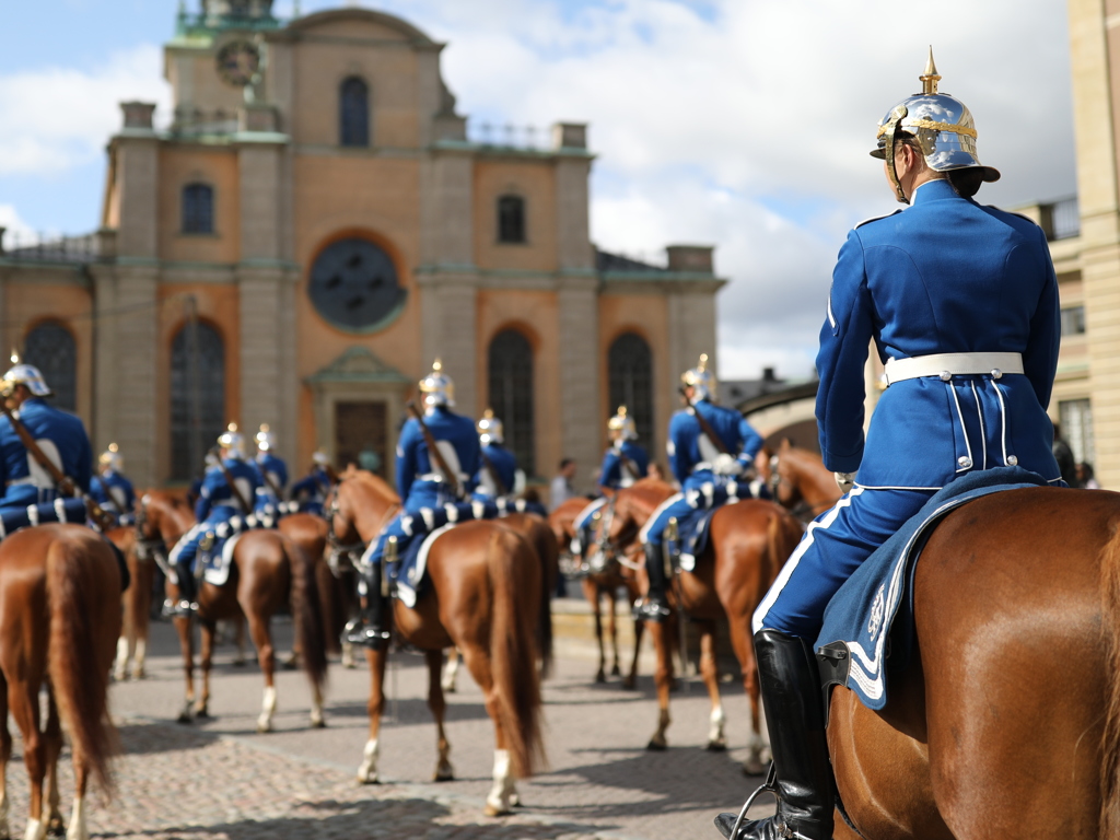
{"label": "dark blue saddle cloth with white border under the foreground rider", "polygon": [[900,675],[914,645],[914,569],[934,528],[951,511],[982,496],[1046,479],[1021,467],[970,473],[939,491],[898,532],[864,561],[829,601],[816,650],[847,648],[847,680],[869,709],[887,704],[888,676]]}

